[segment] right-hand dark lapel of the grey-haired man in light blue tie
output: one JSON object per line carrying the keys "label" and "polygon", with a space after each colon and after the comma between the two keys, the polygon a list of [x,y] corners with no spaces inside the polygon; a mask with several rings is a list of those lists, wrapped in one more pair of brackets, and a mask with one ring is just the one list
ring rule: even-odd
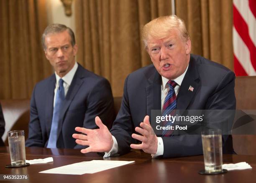
{"label": "right-hand dark lapel of the grey-haired man in light blue tie", "polygon": [[69,90],[65,97],[63,107],[61,108],[60,119],[59,119],[59,124],[58,124],[57,139],[59,138],[67,109],[69,108],[70,103],[72,102],[74,96],[77,94],[77,91],[79,90],[80,86],[82,85],[83,77],[84,77],[84,75],[82,72],[82,66],[78,64],[77,71],[74,74],[74,78],[72,79],[71,85],[69,86]]}

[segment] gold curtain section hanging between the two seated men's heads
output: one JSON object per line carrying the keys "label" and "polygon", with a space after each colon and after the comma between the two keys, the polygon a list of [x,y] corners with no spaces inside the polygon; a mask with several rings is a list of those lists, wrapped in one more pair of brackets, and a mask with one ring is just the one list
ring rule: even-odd
{"label": "gold curtain section hanging between the two seated men's heads", "polygon": [[141,41],[144,24],[170,15],[171,0],[76,0],[77,61],[107,78],[114,96],[126,76],[151,63]]}

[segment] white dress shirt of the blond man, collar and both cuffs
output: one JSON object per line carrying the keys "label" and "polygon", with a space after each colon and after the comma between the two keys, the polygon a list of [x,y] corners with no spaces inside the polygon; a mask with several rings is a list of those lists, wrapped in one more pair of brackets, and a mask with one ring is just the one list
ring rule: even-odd
{"label": "white dress shirt of the blond man, collar and both cuffs", "polygon": [[[187,68],[188,68],[188,66],[187,66]],[[186,68],[185,72],[182,75],[180,75],[178,78],[176,78],[174,80],[177,83],[177,85],[174,88],[176,96],[179,93],[179,88],[180,88],[180,85],[182,84],[184,76],[187,73],[187,68]],[[161,110],[163,110],[164,99],[166,98],[166,95],[168,94],[168,91],[169,91],[169,85],[166,85],[168,81],[169,81],[169,79],[164,78],[162,76]],[[113,147],[112,147],[112,149],[109,152],[105,152],[105,155],[104,155],[103,158],[108,158],[110,155],[114,155],[114,154],[116,154],[118,152],[118,143],[117,143],[117,141],[116,141],[116,139],[115,139],[115,137],[113,135],[112,135],[112,138],[113,138],[113,141],[114,141]],[[158,144],[157,145],[157,151],[156,151],[156,154],[152,154],[152,158],[155,158],[155,157],[157,157],[159,155],[163,155],[164,154],[163,139],[161,137],[158,137],[157,140],[158,140],[158,142],[157,142],[157,144]]]}

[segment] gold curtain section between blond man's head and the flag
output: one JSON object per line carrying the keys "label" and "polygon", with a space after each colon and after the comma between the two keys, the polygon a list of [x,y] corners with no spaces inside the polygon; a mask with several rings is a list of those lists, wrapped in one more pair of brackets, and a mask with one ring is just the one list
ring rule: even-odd
{"label": "gold curtain section between blond man's head and the flag", "polygon": [[192,53],[233,70],[232,0],[176,0],[175,7],[187,25]]}

